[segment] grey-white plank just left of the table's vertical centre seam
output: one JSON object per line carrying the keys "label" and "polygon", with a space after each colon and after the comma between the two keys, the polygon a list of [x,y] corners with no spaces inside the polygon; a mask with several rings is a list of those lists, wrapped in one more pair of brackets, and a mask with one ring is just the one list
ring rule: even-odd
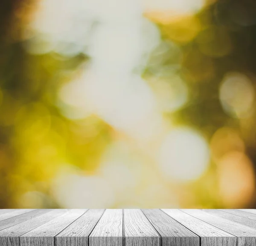
{"label": "grey-white plank just left of the table's vertical centre seam", "polygon": [[90,246],[122,246],[122,209],[106,209],[89,236]]}

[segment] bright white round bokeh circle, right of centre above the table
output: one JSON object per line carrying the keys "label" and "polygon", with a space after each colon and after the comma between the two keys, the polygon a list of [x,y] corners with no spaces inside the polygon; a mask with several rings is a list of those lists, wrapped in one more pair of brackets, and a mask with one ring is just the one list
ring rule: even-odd
{"label": "bright white round bokeh circle, right of centre above the table", "polygon": [[206,140],[188,128],[171,131],[164,139],[159,153],[159,164],[166,177],[191,181],[207,169],[209,148]]}

